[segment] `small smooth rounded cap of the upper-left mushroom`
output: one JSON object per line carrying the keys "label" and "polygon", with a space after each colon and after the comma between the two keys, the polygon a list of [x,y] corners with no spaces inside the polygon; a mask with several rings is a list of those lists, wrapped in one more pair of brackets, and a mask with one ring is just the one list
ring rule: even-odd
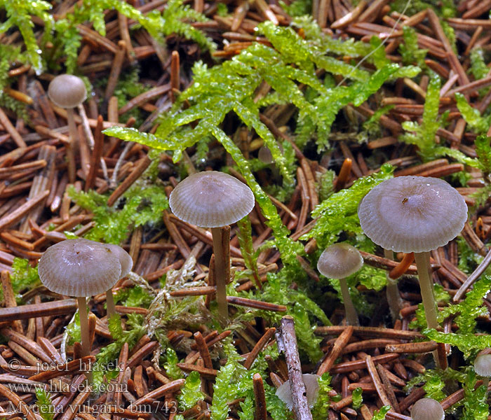
{"label": "small smooth rounded cap of the upper-left mushroom", "polygon": [[61,108],[75,108],[86,100],[87,90],[83,80],[73,74],[60,74],[51,80],[48,97]]}

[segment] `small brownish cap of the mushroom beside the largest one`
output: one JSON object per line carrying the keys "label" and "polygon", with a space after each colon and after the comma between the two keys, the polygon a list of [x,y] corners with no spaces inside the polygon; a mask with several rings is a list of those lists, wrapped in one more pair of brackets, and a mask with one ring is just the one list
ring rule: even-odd
{"label": "small brownish cap of the mushroom beside the largest one", "polygon": [[354,246],[342,242],[325,248],[317,261],[318,272],[330,279],[344,279],[361,269],[363,258]]}

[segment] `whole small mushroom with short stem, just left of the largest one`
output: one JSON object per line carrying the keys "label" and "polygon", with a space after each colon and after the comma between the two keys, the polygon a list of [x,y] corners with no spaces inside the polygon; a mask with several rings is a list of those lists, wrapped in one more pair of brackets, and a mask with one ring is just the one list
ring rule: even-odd
{"label": "whole small mushroom with short stem, just left of the largest one", "polygon": [[348,325],[359,324],[358,314],[356,314],[356,309],[349,295],[346,277],[356,273],[362,265],[363,258],[358,249],[345,243],[328,246],[317,261],[318,272],[330,279],[339,279]]}

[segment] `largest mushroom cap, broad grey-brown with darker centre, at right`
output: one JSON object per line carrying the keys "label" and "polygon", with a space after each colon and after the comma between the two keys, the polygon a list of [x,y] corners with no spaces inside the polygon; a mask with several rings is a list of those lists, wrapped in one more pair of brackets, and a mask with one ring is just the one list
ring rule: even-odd
{"label": "largest mushroom cap, broad grey-brown with darker centre, at right", "polygon": [[398,176],[365,195],[358,217],[365,235],[382,248],[426,252],[459,235],[467,220],[467,205],[442,179]]}

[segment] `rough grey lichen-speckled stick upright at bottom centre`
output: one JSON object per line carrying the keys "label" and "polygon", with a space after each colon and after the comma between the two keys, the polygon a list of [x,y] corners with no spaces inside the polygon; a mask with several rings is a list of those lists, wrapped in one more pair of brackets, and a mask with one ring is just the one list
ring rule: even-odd
{"label": "rough grey lichen-speckled stick upright at bottom centre", "polygon": [[302,377],[302,365],[298,354],[297,336],[295,335],[295,323],[291,316],[281,318],[281,329],[276,335],[278,350],[285,353],[288,367],[288,379],[292,391],[292,405],[297,420],[312,420],[312,414],[307,402],[307,391]]}

